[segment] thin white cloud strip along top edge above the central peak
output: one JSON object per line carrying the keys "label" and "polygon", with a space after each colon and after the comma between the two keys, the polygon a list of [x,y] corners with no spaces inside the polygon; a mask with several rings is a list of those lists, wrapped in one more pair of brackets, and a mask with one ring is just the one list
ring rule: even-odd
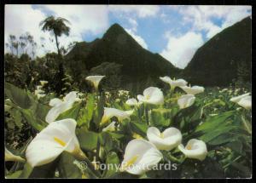
{"label": "thin white cloud strip along top edge above the central peak", "polygon": [[108,5],[108,9],[115,13],[135,13],[139,18],[155,16],[160,11],[157,5]]}

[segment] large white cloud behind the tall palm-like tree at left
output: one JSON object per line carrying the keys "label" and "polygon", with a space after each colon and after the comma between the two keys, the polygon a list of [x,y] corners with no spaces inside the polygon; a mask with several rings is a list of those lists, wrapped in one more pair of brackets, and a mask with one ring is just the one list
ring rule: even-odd
{"label": "large white cloud behind the tall palm-like tree at left", "polygon": [[[67,48],[69,43],[83,41],[82,34],[90,32],[98,34],[108,28],[108,8],[106,5],[41,5],[44,10],[66,18],[71,22],[69,37],[62,36],[59,39],[60,46]],[[46,51],[54,51],[55,42],[49,41],[49,32],[41,31],[38,26],[47,15],[43,9],[32,9],[32,5],[6,5],[5,7],[5,42],[9,34],[20,36],[29,31],[36,43],[40,43],[40,37],[44,37]],[[51,37],[52,38],[52,37]],[[39,56],[44,55],[44,49],[38,48]]]}

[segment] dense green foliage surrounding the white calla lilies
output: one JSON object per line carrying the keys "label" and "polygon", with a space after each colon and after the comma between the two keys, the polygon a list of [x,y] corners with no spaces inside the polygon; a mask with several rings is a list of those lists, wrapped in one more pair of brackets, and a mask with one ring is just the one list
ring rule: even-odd
{"label": "dense green foliage surrounding the white calla lilies", "polygon": [[[47,84],[44,85],[44,89]],[[46,87],[47,88],[47,87]],[[196,95],[195,104],[179,109],[177,99],[183,91],[175,93],[165,90],[164,105],[128,106],[125,101],[131,94],[83,93],[67,112],[57,118],[73,118],[77,121],[76,135],[82,151],[86,154],[87,169],[79,166],[68,152],[62,152],[52,163],[32,169],[28,163],[7,163],[7,177],[68,177],[68,178],[163,178],[163,177],[250,177],[252,173],[251,112],[230,102],[231,96],[244,94],[245,89],[207,89]],[[49,112],[49,100],[55,94],[37,98],[28,90],[16,88],[6,83],[5,129],[6,146],[15,154],[25,157],[26,146],[48,123],[45,116]],[[102,130],[103,107],[114,107],[127,111],[133,109],[131,119],[118,121],[118,129]],[[146,108],[145,108],[146,107]],[[151,170],[141,175],[126,172],[101,170],[97,168],[95,157],[101,163],[119,164],[124,158],[125,146],[132,139],[147,140],[147,129],[154,126],[160,131],[176,127],[183,134],[183,144],[196,138],[207,144],[207,158],[203,161],[184,158],[177,150],[161,151],[161,163],[177,163],[175,170]]]}

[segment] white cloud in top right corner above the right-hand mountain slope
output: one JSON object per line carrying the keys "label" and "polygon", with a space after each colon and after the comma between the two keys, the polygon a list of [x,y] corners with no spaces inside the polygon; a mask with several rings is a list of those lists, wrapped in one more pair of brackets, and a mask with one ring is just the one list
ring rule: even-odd
{"label": "white cloud in top right corner above the right-hand mountain slope", "polygon": [[[194,31],[207,31],[207,38],[211,38],[224,28],[233,25],[237,21],[251,15],[251,6],[170,6],[183,14],[183,20],[193,25]],[[212,18],[222,19],[223,23],[218,26]]]}

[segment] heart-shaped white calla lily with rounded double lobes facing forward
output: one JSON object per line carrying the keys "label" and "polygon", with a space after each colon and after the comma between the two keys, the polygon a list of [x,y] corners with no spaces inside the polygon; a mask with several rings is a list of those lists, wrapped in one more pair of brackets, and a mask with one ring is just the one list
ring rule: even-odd
{"label": "heart-shaped white calla lily with rounded double lobes facing forward", "polygon": [[171,151],[177,147],[182,140],[181,132],[176,128],[165,129],[162,133],[155,127],[148,128],[147,137],[159,150]]}

